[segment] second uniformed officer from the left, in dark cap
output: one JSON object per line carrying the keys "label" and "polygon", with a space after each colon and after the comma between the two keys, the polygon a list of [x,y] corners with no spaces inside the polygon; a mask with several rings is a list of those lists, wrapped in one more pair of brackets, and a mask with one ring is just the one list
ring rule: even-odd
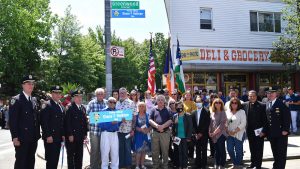
{"label": "second uniformed officer from the left, in dark cap", "polygon": [[51,87],[51,99],[42,105],[41,127],[47,169],[57,168],[61,142],[65,140],[65,113],[59,101],[62,97],[62,90],[60,86]]}

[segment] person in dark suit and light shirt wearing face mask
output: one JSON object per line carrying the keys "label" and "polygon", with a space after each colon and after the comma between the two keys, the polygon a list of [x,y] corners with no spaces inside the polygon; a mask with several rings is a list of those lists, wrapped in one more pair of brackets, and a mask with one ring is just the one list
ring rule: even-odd
{"label": "person in dark suit and light shirt wearing face mask", "polygon": [[197,110],[192,112],[193,131],[196,144],[196,168],[206,168],[207,143],[210,114],[203,107],[200,97],[196,98]]}

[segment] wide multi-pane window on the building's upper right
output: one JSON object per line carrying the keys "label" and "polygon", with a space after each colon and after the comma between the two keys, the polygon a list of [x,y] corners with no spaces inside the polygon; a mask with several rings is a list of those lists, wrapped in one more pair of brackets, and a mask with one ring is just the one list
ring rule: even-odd
{"label": "wide multi-pane window on the building's upper right", "polygon": [[281,32],[281,15],[274,12],[250,12],[250,30],[254,32]]}

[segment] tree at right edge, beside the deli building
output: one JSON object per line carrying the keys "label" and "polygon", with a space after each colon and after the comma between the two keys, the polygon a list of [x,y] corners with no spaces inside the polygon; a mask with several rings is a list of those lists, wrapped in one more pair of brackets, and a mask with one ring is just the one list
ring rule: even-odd
{"label": "tree at right edge, beside the deli building", "polygon": [[[283,20],[286,28],[279,41],[274,43],[275,49],[271,53],[270,59],[273,62],[295,64],[299,67],[300,60],[300,1],[284,0],[286,8],[283,10]],[[299,70],[298,70],[299,71]]]}

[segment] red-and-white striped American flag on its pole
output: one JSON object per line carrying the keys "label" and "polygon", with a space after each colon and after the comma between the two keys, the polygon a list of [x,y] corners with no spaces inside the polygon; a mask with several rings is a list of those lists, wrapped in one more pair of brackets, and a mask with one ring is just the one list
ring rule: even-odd
{"label": "red-and-white striped American flag on its pole", "polygon": [[154,57],[152,51],[152,36],[150,39],[150,54],[149,54],[149,69],[148,69],[148,90],[153,95],[156,90],[155,84],[155,64],[154,64]]}

